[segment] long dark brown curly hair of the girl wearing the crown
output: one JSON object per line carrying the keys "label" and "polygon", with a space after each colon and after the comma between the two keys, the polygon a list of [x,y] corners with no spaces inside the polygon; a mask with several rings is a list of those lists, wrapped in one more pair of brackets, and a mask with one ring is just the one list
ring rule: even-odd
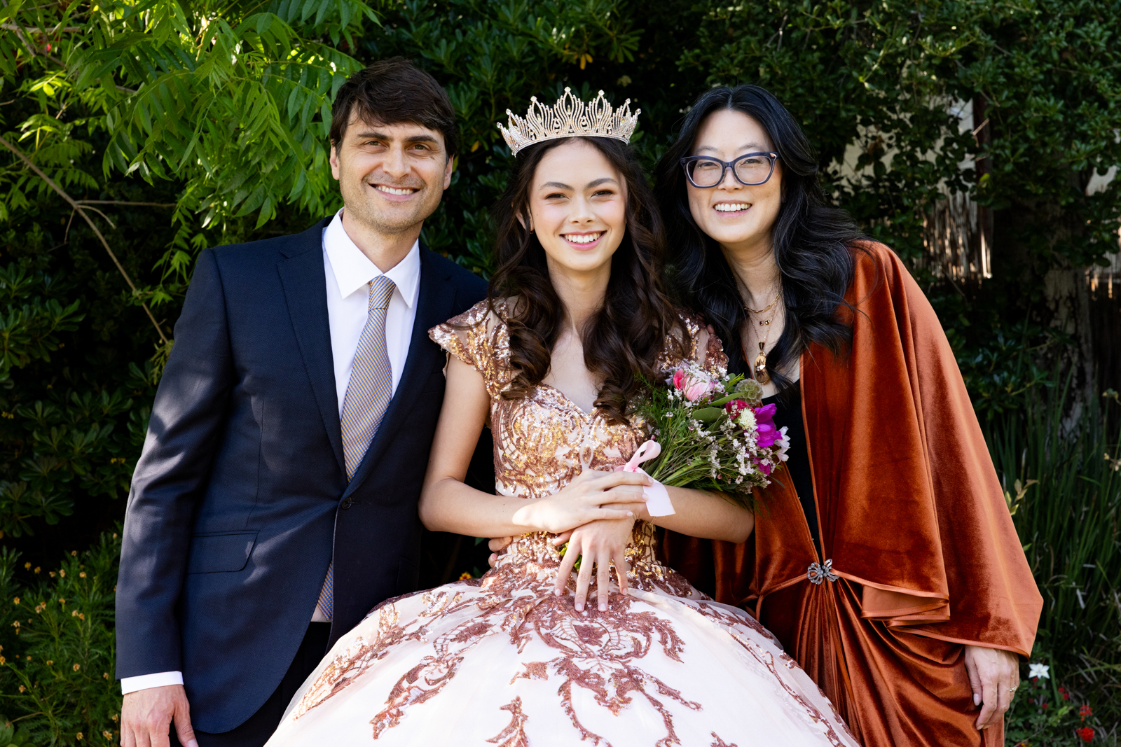
{"label": "long dark brown curly hair of the girl wearing the crown", "polygon": [[[611,258],[603,306],[580,330],[584,365],[602,382],[595,407],[610,422],[626,424],[628,403],[641,386],[639,379],[654,381],[663,353],[684,357],[688,330],[664,288],[664,226],[638,159],[618,140],[583,140],[603,153],[627,186],[627,230]],[[509,186],[493,211],[498,270],[491,277],[488,301],[493,308],[495,299],[517,299],[508,308],[506,321],[510,365],[518,373],[502,393],[506,399],[528,395],[548,374],[564,320],[560,298],[549,281],[545,249],[521,218],[530,214],[529,193],[537,165],[545,153],[568,141],[549,140],[521,150]]]}

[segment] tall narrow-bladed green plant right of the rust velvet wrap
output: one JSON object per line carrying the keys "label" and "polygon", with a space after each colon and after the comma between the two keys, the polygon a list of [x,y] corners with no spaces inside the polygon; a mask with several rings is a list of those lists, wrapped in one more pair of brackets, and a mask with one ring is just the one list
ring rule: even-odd
{"label": "tall narrow-bladed green plant right of the rust velvet wrap", "polygon": [[1039,641],[1069,666],[1080,653],[1121,663],[1118,446],[1099,408],[1064,419],[1067,391],[993,421],[990,449],[1044,596]]}

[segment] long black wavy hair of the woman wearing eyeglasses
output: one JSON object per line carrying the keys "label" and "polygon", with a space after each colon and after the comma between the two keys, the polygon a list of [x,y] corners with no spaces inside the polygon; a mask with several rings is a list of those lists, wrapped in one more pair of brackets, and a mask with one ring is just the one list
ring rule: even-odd
{"label": "long black wavy hair of the woman wearing eyeglasses", "polygon": [[863,239],[847,213],[830,207],[817,181],[817,159],[802,127],[778,99],[757,85],[721,86],[703,93],[685,116],[677,141],[658,164],[655,194],[667,225],[671,289],[679,301],[713,326],[729,357],[729,368],[749,373],[741,334],[748,315],[735,274],[713,239],[689,211],[680,159],[693,147],[708,114],[742,112],[770,136],[779,155],[782,204],[772,228],[775,261],[782,273],[786,327],[767,354],[767,370],[779,391],[791,382],[780,371],[817,343],[847,352],[852,328],[837,311],[851,309],[844,293],[852,282]]}

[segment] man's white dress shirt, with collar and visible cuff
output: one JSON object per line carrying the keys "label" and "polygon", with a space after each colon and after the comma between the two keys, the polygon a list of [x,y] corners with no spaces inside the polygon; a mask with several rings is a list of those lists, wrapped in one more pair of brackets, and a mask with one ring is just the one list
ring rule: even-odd
{"label": "man's white dress shirt, with collar and visible cuff", "polygon": [[[343,228],[343,212],[339,211],[323,230],[323,269],[326,274],[327,321],[331,327],[331,357],[335,368],[335,395],[339,398],[339,417],[342,417],[350,383],[351,364],[358,351],[359,338],[370,316],[370,287],[379,276],[393,281],[393,295],[386,309],[386,352],[393,374],[393,391],[401,381],[405,362],[409,357],[413,323],[417,316],[420,295],[420,243],[415,242],[405,259],[382,272],[362,253]],[[340,424],[340,429],[342,426]],[[341,430],[340,430],[341,432]],[[316,596],[319,590],[316,589]],[[323,622],[318,607],[313,622]],[[121,693],[183,684],[182,672],[156,672],[139,676],[121,678]]]}

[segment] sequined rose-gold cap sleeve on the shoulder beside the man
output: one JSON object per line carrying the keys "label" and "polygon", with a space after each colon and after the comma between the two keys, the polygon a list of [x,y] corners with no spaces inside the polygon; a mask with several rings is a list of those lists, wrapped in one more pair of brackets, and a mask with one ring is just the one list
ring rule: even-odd
{"label": "sequined rose-gold cap sleeve on the shoulder beside the man", "polygon": [[501,299],[491,306],[479,301],[428,330],[434,343],[482,374],[491,396],[497,396],[510,380],[510,335],[504,312]]}

